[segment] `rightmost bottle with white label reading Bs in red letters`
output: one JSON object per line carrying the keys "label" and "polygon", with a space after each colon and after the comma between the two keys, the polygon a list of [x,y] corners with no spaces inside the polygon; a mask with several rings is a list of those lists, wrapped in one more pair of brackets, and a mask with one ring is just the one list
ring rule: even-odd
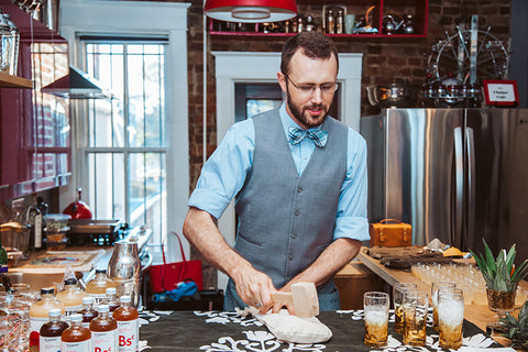
{"label": "rightmost bottle with white label reading Bs in red letters", "polygon": [[120,302],[119,308],[112,314],[113,319],[118,321],[119,351],[136,352],[140,338],[140,314],[131,306],[130,296],[122,296]]}

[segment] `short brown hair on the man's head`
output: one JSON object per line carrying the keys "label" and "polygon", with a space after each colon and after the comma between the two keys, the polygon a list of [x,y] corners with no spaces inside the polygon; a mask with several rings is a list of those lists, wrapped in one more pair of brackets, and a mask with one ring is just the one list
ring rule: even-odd
{"label": "short brown hair on the man's head", "polygon": [[283,46],[280,57],[280,70],[283,74],[289,74],[289,62],[298,50],[301,50],[301,53],[309,58],[328,59],[333,54],[339,70],[338,47],[336,43],[320,32],[301,32],[290,37]]}

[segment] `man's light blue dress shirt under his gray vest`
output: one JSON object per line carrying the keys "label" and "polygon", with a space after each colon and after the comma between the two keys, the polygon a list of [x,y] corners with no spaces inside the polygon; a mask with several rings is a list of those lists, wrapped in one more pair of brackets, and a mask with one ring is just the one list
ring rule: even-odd
{"label": "man's light blue dress shirt under his gray vest", "polygon": [[[284,133],[288,135],[290,127],[298,127],[286,112],[283,103],[279,108]],[[320,127],[315,128],[320,129]],[[253,165],[255,147],[253,120],[233,124],[215,153],[204,164],[196,189],[190,195],[188,206],[220,218],[242,189]],[[304,139],[293,145],[288,143],[299,175],[308,164],[316,145],[310,139]],[[366,241],[369,221],[366,215],[366,143],[363,138],[349,128],[346,151],[346,176],[341,187],[333,239],[350,238]]]}

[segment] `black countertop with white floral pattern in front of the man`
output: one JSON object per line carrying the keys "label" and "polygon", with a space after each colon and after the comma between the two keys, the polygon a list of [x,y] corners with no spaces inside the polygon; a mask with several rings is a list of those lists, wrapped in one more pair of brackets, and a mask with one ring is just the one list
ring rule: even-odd
{"label": "black countertop with white floral pattern in front of the man", "polygon": [[[169,316],[151,319],[157,320],[143,324],[140,329],[140,341],[146,341],[150,351],[370,351],[363,344],[364,322],[361,310],[321,312],[318,319],[330,328],[333,337],[328,342],[317,344],[280,343],[256,319],[240,318],[234,312],[175,311]],[[427,350],[442,350],[438,348],[438,333],[431,328],[432,312],[428,320]],[[388,333],[392,351],[396,351],[396,348],[398,351],[424,351],[402,344],[402,336],[394,333],[393,315]],[[466,320],[463,334],[465,345],[501,348],[501,344]]]}

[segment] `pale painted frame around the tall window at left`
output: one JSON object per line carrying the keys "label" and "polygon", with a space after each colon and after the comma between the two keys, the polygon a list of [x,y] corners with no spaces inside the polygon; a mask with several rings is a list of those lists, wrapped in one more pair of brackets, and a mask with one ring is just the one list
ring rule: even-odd
{"label": "pale painted frame around the tall window at left", "polygon": [[[69,43],[69,62],[86,68],[85,48],[79,35],[166,36],[165,88],[167,119],[166,191],[167,229],[182,233],[189,197],[189,138],[187,84],[187,9],[190,3],[109,0],[62,0],[61,36]],[[82,147],[88,141],[86,101],[72,100],[72,168],[68,186],[61,189],[59,205],[72,201],[77,187],[88,186]],[[85,109],[85,110],[84,110]],[[88,195],[88,191],[84,193]],[[61,209],[62,209],[61,208]],[[168,248],[176,243],[168,238]],[[189,255],[189,245],[184,245]],[[168,260],[179,261],[179,251],[168,251]]]}

